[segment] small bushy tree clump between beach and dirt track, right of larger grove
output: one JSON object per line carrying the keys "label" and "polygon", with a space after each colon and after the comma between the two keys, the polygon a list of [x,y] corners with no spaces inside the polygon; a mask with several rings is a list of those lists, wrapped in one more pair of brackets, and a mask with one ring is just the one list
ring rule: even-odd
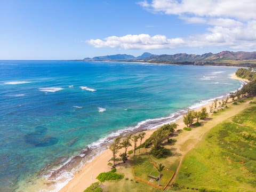
{"label": "small bushy tree clump between beach and dirt track, right of larger grove", "polygon": [[202,107],[201,111],[188,110],[188,113],[183,116],[183,122],[187,127],[194,123],[194,119],[196,118],[196,123],[199,122],[199,119],[204,119],[208,117],[206,107]]}

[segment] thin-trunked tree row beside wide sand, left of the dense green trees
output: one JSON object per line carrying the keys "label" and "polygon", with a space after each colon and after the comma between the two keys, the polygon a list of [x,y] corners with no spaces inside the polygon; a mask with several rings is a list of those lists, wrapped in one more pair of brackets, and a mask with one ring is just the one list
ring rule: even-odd
{"label": "thin-trunked tree row beside wide sand, left of the dense green trees", "polygon": [[[113,157],[113,166],[115,166],[116,160],[122,160],[124,163],[127,161],[127,149],[128,147],[132,146],[133,143],[133,155],[135,155],[135,151],[137,148],[137,142],[140,140],[140,145],[142,142],[142,139],[145,137],[146,133],[141,132],[138,135],[128,135],[122,140],[121,136],[118,136],[115,138],[115,140],[110,144],[109,149],[112,151]],[[117,158],[117,154],[119,152],[119,149],[124,148],[124,153],[119,154],[120,158]],[[139,150],[140,153],[140,150]]]}

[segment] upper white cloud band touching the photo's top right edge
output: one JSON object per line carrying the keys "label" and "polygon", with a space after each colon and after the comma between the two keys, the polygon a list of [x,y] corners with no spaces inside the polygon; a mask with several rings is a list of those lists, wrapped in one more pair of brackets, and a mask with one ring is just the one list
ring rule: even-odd
{"label": "upper white cloud band touching the photo's top right edge", "polygon": [[255,0],[153,0],[139,3],[154,12],[165,14],[192,14],[197,17],[223,17],[238,20],[256,19]]}

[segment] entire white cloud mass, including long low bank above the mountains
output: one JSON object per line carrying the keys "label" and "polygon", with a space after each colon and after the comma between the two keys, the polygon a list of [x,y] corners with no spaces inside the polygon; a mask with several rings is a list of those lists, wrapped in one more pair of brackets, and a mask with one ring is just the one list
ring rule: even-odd
{"label": "entire white cloud mass, including long low bank above the mountains", "polygon": [[210,46],[231,49],[256,47],[255,0],[145,0],[137,4],[150,12],[178,15],[186,23],[206,25],[207,33],[175,38],[148,34],[110,36],[86,42],[94,47],[144,50]]}

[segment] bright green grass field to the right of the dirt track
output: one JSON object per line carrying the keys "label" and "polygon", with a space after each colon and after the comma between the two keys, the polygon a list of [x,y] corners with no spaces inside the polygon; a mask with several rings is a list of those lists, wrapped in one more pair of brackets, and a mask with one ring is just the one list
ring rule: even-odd
{"label": "bright green grass field to the right of the dirt track", "polygon": [[213,127],[189,151],[175,181],[179,186],[256,191],[256,107],[251,106]]}

